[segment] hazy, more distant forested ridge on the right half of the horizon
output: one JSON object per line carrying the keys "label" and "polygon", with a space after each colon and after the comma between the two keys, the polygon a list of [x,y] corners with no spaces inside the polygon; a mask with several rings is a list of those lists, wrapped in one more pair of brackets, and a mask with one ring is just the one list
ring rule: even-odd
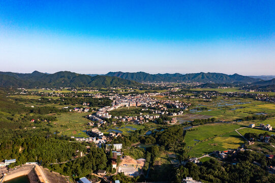
{"label": "hazy, more distant forested ridge on the right half of the horizon", "polygon": [[133,80],[137,82],[154,82],[154,81],[191,81],[191,82],[215,82],[215,83],[231,83],[242,82],[251,83],[261,81],[258,78],[242,76],[239,74],[227,75],[222,73],[193,73],[193,74],[148,74],[145,72],[109,72],[106,76],[116,76],[123,79]]}

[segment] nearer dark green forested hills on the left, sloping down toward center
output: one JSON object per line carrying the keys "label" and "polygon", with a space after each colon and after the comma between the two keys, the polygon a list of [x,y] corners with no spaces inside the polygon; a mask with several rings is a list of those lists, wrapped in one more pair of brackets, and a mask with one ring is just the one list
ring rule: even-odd
{"label": "nearer dark green forested hills on the left, sloping down toward center", "polygon": [[0,86],[4,87],[124,87],[141,86],[141,83],[111,76],[88,76],[69,71],[45,74],[0,72]]}

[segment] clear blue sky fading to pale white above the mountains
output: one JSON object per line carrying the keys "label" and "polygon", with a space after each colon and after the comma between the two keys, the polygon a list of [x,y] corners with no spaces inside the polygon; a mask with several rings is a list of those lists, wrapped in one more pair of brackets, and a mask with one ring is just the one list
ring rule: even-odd
{"label": "clear blue sky fading to pale white above the mountains", "polygon": [[275,1],[0,1],[1,71],[275,75]]}

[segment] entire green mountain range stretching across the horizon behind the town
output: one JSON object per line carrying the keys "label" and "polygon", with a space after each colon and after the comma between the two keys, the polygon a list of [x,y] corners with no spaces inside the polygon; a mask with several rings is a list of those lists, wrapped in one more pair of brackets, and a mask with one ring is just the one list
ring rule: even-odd
{"label": "entire green mountain range stretching across the horizon behind the town", "polygon": [[239,74],[193,73],[193,74],[148,74],[145,72],[109,72],[106,75],[77,74],[60,71],[54,74],[34,71],[29,74],[0,72],[0,86],[13,87],[133,87],[142,86],[140,82],[201,82],[201,83],[233,83],[252,85],[273,85],[275,79],[262,80]]}

